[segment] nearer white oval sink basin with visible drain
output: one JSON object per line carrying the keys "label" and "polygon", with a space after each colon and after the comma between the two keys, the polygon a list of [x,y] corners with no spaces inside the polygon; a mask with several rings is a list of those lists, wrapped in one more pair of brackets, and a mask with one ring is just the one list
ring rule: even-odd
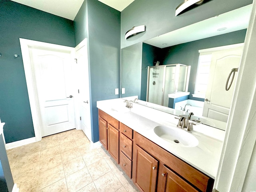
{"label": "nearer white oval sink basin with visible drain", "polygon": [[177,127],[159,125],[154,128],[154,132],[171,144],[183,147],[195,147],[198,145],[198,140],[195,136]]}

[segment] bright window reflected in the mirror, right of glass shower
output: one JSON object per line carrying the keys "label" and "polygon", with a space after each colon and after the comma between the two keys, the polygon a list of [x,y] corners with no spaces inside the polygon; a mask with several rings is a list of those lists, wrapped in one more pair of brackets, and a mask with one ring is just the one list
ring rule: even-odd
{"label": "bright window reflected in the mirror, right of glass shower", "polygon": [[210,64],[212,54],[204,54],[199,56],[198,69],[196,75],[196,86],[194,97],[205,98],[208,79],[210,74]]}

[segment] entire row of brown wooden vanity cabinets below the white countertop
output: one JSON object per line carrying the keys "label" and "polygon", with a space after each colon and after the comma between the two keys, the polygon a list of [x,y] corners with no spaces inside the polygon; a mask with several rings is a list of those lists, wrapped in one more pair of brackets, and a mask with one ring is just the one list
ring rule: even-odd
{"label": "entire row of brown wooden vanity cabinets below the white countertop", "polygon": [[100,143],[142,192],[211,192],[214,180],[99,110]]}

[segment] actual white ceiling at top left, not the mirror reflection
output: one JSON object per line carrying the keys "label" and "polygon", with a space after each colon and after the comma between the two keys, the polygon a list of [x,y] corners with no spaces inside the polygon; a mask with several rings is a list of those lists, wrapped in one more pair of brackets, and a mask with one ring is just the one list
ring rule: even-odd
{"label": "actual white ceiling at top left, not the mirror reflection", "polygon": [[[12,0],[60,17],[74,20],[84,0]],[[99,0],[100,2],[122,11],[134,0]]]}

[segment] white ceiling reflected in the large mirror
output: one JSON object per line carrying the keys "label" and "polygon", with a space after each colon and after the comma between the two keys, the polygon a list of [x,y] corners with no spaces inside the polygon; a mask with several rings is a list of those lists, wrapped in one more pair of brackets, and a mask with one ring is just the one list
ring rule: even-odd
{"label": "white ceiling reflected in the large mirror", "polygon": [[215,16],[213,18],[203,20],[184,28],[174,30],[144,42],[159,48],[165,48],[246,29],[249,24],[251,12],[252,4]]}

